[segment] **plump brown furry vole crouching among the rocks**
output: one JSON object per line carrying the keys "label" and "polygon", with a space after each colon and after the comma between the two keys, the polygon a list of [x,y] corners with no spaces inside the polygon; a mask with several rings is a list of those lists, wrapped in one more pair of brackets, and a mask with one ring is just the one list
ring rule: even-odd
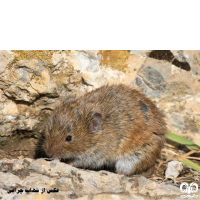
{"label": "plump brown furry vole crouching among the rocks", "polygon": [[44,151],[87,169],[119,174],[152,171],[165,142],[165,116],[144,94],[123,84],[67,98],[47,120]]}

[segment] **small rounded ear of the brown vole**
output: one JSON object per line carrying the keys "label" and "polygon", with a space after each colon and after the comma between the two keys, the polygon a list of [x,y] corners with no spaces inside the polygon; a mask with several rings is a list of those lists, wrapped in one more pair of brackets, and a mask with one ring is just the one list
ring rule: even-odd
{"label": "small rounded ear of the brown vole", "polygon": [[89,133],[101,130],[101,125],[102,115],[100,113],[93,113],[88,126]]}

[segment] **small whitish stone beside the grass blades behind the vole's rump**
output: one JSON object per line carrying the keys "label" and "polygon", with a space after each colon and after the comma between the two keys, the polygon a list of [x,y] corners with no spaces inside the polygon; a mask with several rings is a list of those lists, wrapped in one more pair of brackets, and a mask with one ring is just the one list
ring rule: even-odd
{"label": "small whitish stone beside the grass blades behind the vole's rump", "polygon": [[183,170],[183,163],[179,161],[170,161],[167,164],[167,169],[165,171],[165,177],[174,180],[179,176]]}

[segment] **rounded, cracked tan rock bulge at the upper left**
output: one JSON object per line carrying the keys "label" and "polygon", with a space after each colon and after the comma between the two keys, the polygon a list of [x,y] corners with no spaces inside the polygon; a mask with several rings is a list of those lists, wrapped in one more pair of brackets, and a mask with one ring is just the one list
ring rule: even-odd
{"label": "rounded, cracked tan rock bulge at the upper left", "polygon": [[18,61],[0,76],[1,89],[15,100],[33,102],[39,95],[58,96],[57,85],[43,63],[36,60]]}

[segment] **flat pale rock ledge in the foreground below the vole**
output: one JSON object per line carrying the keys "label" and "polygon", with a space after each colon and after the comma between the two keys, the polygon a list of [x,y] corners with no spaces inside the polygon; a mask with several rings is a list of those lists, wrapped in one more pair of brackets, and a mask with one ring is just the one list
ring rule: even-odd
{"label": "flat pale rock ledge in the foreground below the vole", "polygon": [[[162,199],[180,195],[179,188],[143,176],[78,169],[59,160],[4,160],[0,162],[0,177],[3,199],[146,199],[147,196]],[[39,192],[27,194],[25,189],[30,188]],[[59,191],[47,193],[54,188]],[[14,191],[8,194],[11,189]],[[17,194],[20,189],[23,191]]]}

